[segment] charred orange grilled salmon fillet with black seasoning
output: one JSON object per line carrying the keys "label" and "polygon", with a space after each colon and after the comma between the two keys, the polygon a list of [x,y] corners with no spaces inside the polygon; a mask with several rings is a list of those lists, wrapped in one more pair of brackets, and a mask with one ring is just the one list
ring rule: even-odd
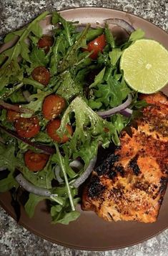
{"label": "charred orange grilled salmon fillet with black seasoning", "polygon": [[84,188],[82,210],[107,221],[155,222],[168,181],[168,100],[162,93],[142,95],[150,105],[137,119],[132,137],[96,167]]}

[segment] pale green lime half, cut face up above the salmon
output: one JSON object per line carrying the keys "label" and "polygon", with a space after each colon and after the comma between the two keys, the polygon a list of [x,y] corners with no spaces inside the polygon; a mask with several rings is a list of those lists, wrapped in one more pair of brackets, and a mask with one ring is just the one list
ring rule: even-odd
{"label": "pale green lime half, cut face up above the salmon", "polygon": [[158,92],[168,83],[168,51],[157,41],[139,39],[124,50],[120,69],[135,91]]}

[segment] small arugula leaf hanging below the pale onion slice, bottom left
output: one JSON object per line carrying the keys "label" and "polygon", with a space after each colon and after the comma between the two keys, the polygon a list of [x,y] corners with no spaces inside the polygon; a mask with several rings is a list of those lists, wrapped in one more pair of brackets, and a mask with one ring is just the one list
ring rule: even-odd
{"label": "small arugula leaf hanging below the pale onion slice, bottom left", "polygon": [[36,205],[45,199],[46,197],[40,197],[39,195],[34,195],[31,193],[29,194],[29,200],[27,200],[26,204],[24,205],[24,209],[29,218],[34,216]]}

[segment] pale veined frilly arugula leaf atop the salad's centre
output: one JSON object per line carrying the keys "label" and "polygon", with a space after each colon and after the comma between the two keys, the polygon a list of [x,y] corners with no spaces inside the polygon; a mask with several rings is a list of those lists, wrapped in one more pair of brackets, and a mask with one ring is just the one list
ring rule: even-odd
{"label": "pale veined frilly arugula leaf atop the salad's centre", "polygon": [[[76,129],[69,142],[66,142],[69,152],[79,151],[82,145],[89,145],[93,140],[103,144],[111,141],[114,125],[99,117],[81,97],[76,97],[64,112],[61,126],[57,130],[60,137],[67,133],[66,124],[70,122],[71,113],[74,113]],[[108,133],[104,132],[105,128],[109,129]]]}

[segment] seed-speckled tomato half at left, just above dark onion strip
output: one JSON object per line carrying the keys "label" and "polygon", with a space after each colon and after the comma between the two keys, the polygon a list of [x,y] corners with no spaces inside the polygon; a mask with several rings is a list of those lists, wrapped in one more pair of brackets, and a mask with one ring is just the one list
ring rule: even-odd
{"label": "seed-speckled tomato half at left, just above dark onion strip", "polygon": [[38,134],[40,129],[39,119],[37,117],[20,117],[19,119],[16,119],[15,129],[21,137],[34,137],[36,134]]}

